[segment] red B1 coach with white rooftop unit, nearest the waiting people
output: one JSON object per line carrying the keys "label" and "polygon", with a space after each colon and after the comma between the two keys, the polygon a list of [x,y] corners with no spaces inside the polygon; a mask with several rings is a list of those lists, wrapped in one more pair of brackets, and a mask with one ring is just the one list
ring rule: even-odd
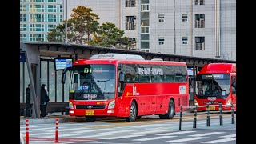
{"label": "red B1 coach with white rooftop unit, nearest the waiting people", "polygon": [[96,54],[70,70],[70,116],[119,117],[134,122],[143,115],[174,117],[188,106],[186,62],[145,60],[134,54]]}

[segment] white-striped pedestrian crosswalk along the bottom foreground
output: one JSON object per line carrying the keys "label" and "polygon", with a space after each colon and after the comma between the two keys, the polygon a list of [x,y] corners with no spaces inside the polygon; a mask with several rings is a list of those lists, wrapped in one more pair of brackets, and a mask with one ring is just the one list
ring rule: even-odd
{"label": "white-striped pedestrian crosswalk along the bottom foreground", "polygon": [[[64,125],[64,124],[63,124]],[[25,126],[20,126],[22,134],[25,135]],[[97,143],[113,142],[119,143],[218,143],[236,142],[235,131],[218,130],[171,130],[170,126],[151,125],[150,127],[108,127],[92,129],[86,126],[59,126],[58,138],[62,143]],[[55,138],[54,126],[31,126],[30,143],[50,143]],[[40,140],[38,140],[40,139]],[[129,142],[128,142],[129,141]]]}

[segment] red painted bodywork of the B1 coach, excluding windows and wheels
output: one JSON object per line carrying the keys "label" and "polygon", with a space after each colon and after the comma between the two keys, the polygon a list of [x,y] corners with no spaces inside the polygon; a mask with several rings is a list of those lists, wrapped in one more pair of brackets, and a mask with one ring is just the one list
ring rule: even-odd
{"label": "red painted bodywork of the B1 coach, excluding windows and wheels", "polygon": [[[165,64],[165,65],[178,65],[186,66],[186,62],[170,62],[170,61],[150,61],[150,60],[116,60],[116,59],[83,59],[74,62],[74,65],[85,64],[114,64],[116,70],[118,64]],[[73,65],[73,66],[74,66]],[[118,74],[116,73],[116,83],[118,83]],[[136,91],[133,91],[133,86],[136,86]],[[179,86],[186,86],[186,94],[179,94]],[[114,117],[129,117],[130,104],[134,100],[138,107],[139,115],[150,114],[166,114],[168,112],[168,104],[171,98],[174,99],[175,112],[180,111],[180,106],[188,106],[189,104],[189,84],[187,82],[157,82],[157,83],[126,83],[125,89],[121,97],[118,97],[118,86],[115,87],[115,106],[113,113],[107,113],[109,102],[113,99],[106,101],[82,101],[70,99],[74,109],[74,113],[70,116],[85,116],[85,109],[75,109],[76,105],[101,105],[105,104],[105,109],[90,109],[94,110],[94,116],[114,116]],[[183,109],[186,110],[186,109]]]}

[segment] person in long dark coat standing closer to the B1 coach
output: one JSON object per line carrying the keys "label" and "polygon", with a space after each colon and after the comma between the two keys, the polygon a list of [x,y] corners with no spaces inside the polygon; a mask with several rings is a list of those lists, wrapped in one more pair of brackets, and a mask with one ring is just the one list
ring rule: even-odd
{"label": "person in long dark coat standing closer to the B1 coach", "polygon": [[40,117],[44,118],[46,117],[46,109],[47,109],[47,104],[50,101],[49,95],[48,95],[48,90],[45,84],[42,84],[41,86],[41,98],[40,98],[40,110],[41,114]]}

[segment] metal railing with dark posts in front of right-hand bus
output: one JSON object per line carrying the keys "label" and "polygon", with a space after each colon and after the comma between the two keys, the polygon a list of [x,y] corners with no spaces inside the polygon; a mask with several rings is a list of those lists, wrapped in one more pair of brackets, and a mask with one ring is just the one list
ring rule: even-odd
{"label": "metal railing with dark posts in front of right-hand bus", "polygon": [[[219,110],[215,110],[215,111],[210,111],[209,107],[210,106],[217,106],[219,107]],[[229,113],[231,112],[231,124],[234,124],[234,112],[236,110],[234,110],[234,106],[236,106],[236,104],[231,104],[231,105],[210,105],[207,104],[206,106],[181,106],[181,111],[180,111],[180,117],[179,117],[179,130],[182,130],[182,110],[183,108],[191,108],[194,109],[194,120],[193,120],[193,128],[197,127],[197,115],[198,115],[198,107],[206,107],[206,111],[200,112],[199,114],[207,114],[206,115],[206,126],[210,126],[210,113],[219,113],[219,124],[220,126],[223,125],[223,113]],[[231,110],[225,110],[223,111],[222,106],[226,106],[226,107],[231,107]]]}

